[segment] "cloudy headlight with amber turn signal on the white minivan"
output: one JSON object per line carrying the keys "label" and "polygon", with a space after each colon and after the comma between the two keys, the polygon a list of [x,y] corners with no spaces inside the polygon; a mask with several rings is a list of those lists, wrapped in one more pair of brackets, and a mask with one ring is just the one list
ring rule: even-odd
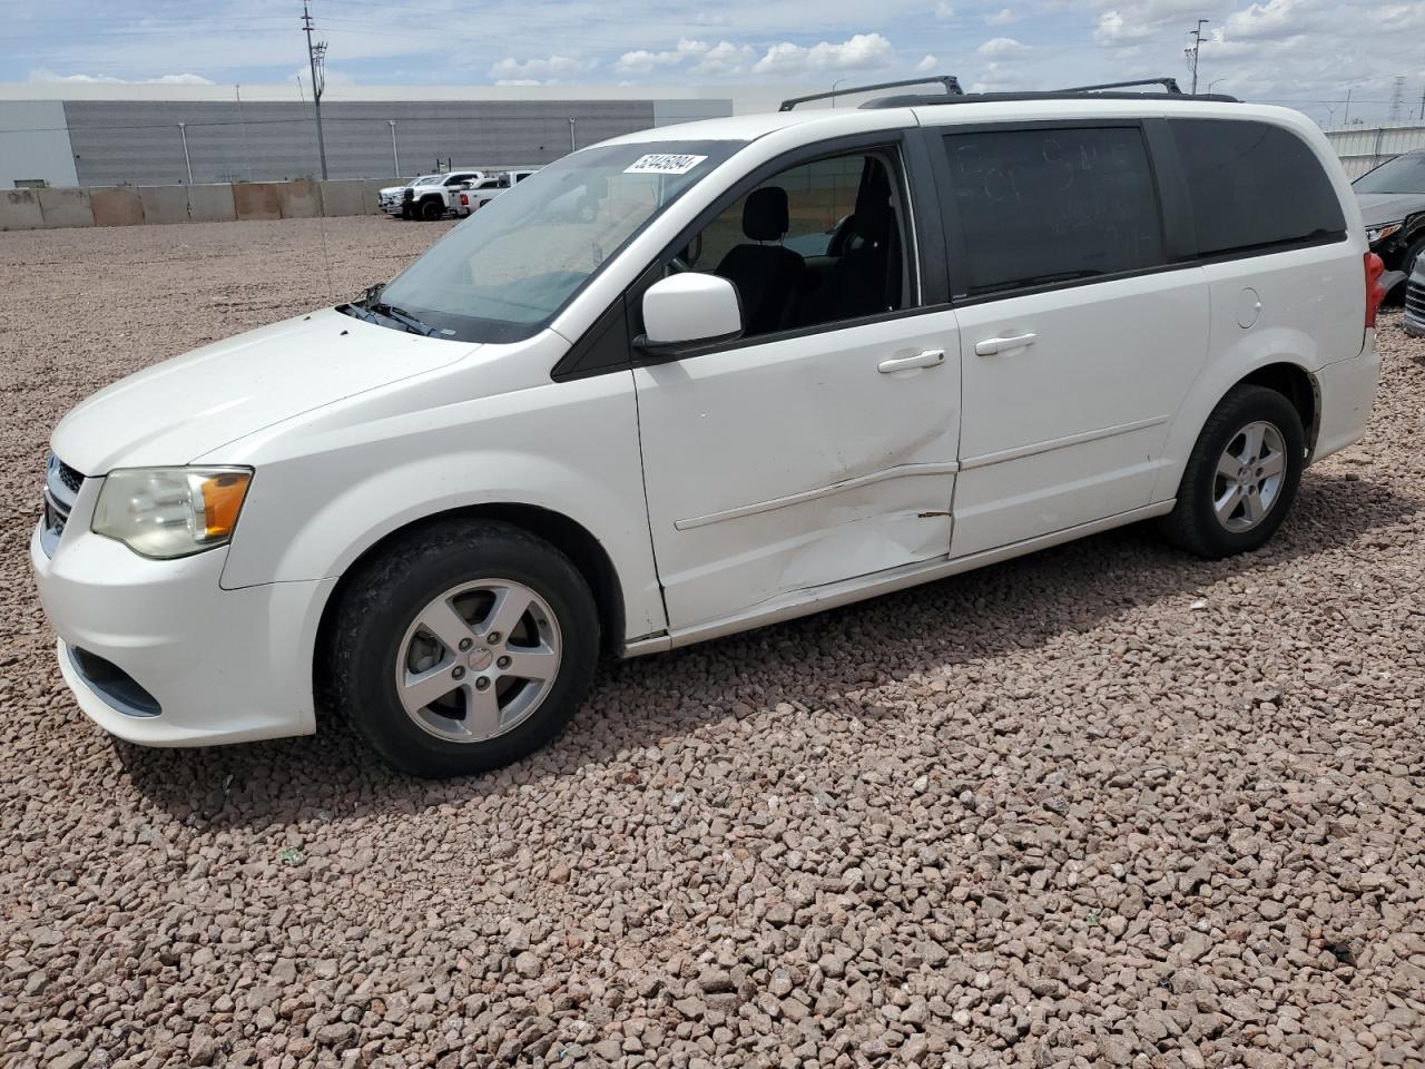
{"label": "cloudy headlight with amber turn signal on the white minivan", "polygon": [[227,544],[252,482],[249,468],[120,468],[104,476],[90,530],[145,557]]}

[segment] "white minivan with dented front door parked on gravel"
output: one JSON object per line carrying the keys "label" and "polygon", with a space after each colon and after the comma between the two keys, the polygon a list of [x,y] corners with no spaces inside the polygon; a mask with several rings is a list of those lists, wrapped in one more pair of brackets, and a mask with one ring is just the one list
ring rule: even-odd
{"label": "white minivan with dented front door parked on gravel", "polygon": [[383,288],[56,428],[31,559],[80,707],[345,716],[486,770],[631,657],[1136,520],[1261,546],[1365,428],[1379,262],[1320,130],[911,95],[573,153]]}

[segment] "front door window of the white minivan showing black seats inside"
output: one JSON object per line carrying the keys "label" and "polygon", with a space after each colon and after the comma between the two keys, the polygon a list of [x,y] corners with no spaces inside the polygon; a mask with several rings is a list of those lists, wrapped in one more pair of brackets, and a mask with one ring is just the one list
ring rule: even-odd
{"label": "front door window of the white minivan showing black seats inside", "polygon": [[673,269],[730,279],[744,338],[906,308],[901,188],[881,153],[787,168],[728,204]]}

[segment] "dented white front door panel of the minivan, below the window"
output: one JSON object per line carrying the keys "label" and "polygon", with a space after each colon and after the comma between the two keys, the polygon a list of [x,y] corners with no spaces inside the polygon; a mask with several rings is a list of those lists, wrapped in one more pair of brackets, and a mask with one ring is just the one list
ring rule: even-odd
{"label": "dented white front door panel of the minivan, below the window", "polygon": [[[936,349],[936,366],[879,371]],[[670,624],[946,556],[959,379],[950,311],[638,368]]]}

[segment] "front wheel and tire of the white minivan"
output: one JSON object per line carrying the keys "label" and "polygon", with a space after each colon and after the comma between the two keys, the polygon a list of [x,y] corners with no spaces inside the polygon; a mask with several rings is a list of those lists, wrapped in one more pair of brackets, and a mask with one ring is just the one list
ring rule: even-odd
{"label": "front wheel and tire of the white minivan", "polygon": [[[509,631],[493,634],[526,597]],[[594,597],[569,557],[506,523],[443,520],[351,576],[321,690],[393,768],[469,775],[517,761],[564,728],[598,643]]]}

